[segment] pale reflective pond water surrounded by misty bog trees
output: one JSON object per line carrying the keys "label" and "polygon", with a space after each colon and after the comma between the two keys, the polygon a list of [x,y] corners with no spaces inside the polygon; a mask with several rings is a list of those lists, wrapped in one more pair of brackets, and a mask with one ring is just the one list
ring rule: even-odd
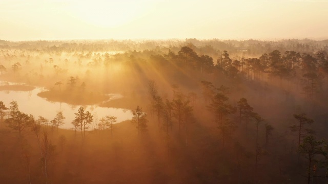
{"label": "pale reflective pond water surrounded by misty bog trees", "polygon": [[[40,87],[36,87],[31,91],[0,91],[0,101],[3,101],[8,108],[11,101],[17,101],[20,111],[32,114],[36,119],[38,116],[43,116],[51,121],[58,111],[63,111],[66,119],[62,128],[72,128],[71,122],[75,119],[74,113],[77,112],[80,106],[47,101],[37,96],[41,91],[43,90]],[[132,118],[130,110],[127,109],[99,107],[97,105],[84,105],[83,107],[94,116],[93,128],[95,123],[98,123],[97,120],[105,116],[117,117],[118,123]]]}

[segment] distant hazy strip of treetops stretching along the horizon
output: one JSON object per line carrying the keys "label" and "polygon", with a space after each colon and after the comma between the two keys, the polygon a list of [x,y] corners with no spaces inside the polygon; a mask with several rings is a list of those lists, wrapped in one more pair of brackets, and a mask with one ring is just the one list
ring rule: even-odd
{"label": "distant hazy strip of treetops stretching along the horizon", "polygon": [[[252,55],[261,55],[273,50],[314,52],[327,49],[328,40],[285,39],[285,40],[220,40],[208,39],[171,39],[171,40],[38,40],[6,41],[0,40],[0,49],[16,49],[42,52],[108,52],[108,51],[144,51],[167,50],[177,51],[181,45],[188,45],[197,53],[226,50],[231,54],[248,50]],[[217,52],[220,53],[220,52]],[[207,54],[207,53],[204,53]]]}

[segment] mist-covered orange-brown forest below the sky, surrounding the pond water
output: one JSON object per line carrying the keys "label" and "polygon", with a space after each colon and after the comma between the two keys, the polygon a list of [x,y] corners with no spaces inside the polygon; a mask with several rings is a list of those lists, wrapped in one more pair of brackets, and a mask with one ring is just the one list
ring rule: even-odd
{"label": "mist-covered orange-brown forest below the sky, surrounding the pond water", "polygon": [[1,183],[328,182],[328,40],[0,40],[0,74],[75,109],[0,96]]}

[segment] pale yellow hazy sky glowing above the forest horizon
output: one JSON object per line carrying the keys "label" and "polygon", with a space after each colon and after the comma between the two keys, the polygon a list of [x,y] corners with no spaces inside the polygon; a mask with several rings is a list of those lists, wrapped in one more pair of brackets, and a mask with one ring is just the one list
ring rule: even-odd
{"label": "pale yellow hazy sky glowing above the forest horizon", "polygon": [[328,0],[0,0],[0,39],[328,38]]}

